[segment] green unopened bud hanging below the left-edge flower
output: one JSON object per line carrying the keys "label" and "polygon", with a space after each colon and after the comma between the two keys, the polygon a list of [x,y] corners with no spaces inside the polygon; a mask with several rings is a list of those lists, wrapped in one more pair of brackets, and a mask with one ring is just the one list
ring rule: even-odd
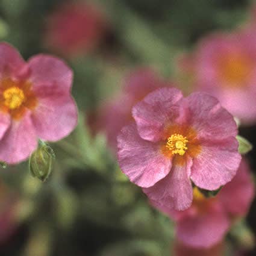
{"label": "green unopened bud hanging below the left-edge flower", "polygon": [[55,154],[52,148],[39,140],[38,148],[30,156],[30,172],[41,181],[46,181],[52,172]]}

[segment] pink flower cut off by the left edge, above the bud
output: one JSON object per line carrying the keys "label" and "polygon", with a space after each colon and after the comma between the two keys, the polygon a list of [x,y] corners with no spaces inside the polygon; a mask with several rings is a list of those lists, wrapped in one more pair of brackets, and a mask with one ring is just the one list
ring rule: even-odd
{"label": "pink flower cut off by the left edge, above the bud", "polygon": [[30,156],[38,138],[55,142],[75,128],[72,70],[43,54],[26,63],[7,43],[0,56],[0,160],[14,164]]}

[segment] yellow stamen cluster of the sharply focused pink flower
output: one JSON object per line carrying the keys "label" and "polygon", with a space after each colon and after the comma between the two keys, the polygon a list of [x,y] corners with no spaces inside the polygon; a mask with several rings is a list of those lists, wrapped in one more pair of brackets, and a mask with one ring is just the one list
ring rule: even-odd
{"label": "yellow stamen cluster of the sharply focused pink flower", "polygon": [[189,140],[187,140],[186,136],[175,133],[167,139],[166,148],[169,149],[173,155],[184,155],[187,150],[187,142],[189,142]]}

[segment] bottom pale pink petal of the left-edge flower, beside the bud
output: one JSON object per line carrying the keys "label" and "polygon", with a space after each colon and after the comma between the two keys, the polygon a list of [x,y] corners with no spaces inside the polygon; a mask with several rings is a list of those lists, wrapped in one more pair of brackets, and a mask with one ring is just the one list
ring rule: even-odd
{"label": "bottom pale pink petal of the left-edge flower, beside the bud", "polygon": [[16,164],[27,159],[37,148],[37,137],[27,111],[21,120],[13,120],[0,141],[0,160]]}

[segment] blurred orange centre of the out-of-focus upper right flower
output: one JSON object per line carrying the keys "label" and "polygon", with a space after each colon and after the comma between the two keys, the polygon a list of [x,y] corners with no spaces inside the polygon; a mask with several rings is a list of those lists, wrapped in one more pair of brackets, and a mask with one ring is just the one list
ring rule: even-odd
{"label": "blurred orange centre of the out-of-focus upper right flower", "polygon": [[253,70],[252,62],[249,57],[240,53],[228,54],[220,57],[219,75],[220,80],[231,87],[246,86]]}

